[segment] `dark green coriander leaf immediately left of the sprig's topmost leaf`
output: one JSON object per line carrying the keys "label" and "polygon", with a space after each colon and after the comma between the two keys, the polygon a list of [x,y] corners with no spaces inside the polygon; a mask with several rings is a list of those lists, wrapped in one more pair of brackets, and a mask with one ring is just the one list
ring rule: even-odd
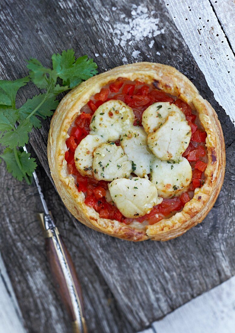
{"label": "dark green coriander leaf immediately left of the sprig's topmost leaf", "polygon": [[[33,83],[40,89],[49,89],[54,87],[57,80],[57,74],[50,68],[44,67],[40,61],[31,58],[27,61],[27,68],[29,69],[29,76]],[[49,76],[48,76],[48,75]]]}

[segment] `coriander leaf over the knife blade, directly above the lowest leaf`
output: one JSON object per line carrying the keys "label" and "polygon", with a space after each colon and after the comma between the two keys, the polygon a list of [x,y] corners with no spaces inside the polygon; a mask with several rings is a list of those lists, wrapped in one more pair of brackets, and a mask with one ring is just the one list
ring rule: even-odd
{"label": "coriander leaf over the knife blade, directly above the lowest leaf", "polygon": [[6,132],[0,139],[3,146],[14,148],[16,146],[23,147],[29,141],[29,132],[32,130],[32,123],[29,119],[24,120],[13,131]]}

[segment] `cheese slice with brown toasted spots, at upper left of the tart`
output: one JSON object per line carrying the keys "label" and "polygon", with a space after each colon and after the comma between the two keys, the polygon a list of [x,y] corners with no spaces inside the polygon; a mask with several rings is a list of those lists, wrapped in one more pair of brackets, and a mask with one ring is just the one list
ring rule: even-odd
{"label": "cheese slice with brown toasted spots, at upper left of the tart", "polygon": [[131,108],[121,101],[110,100],[95,111],[90,124],[90,134],[98,134],[105,141],[116,141],[133,125],[133,121]]}

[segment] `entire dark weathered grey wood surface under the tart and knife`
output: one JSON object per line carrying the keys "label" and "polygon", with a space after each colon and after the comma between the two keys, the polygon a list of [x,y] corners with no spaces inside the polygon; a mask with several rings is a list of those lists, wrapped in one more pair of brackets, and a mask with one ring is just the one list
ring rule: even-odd
{"label": "entire dark weathered grey wood surface under the tart and knife", "polygon": [[[168,6],[163,1],[132,3],[142,4],[148,13],[156,11],[159,29],[165,29],[164,34],[152,38],[152,48],[149,38],[123,47],[114,44],[115,23],[123,20],[123,13],[131,17],[126,1],[119,1],[118,8],[116,2],[102,0],[0,1],[0,41],[4,45],[0,50],[1,79],[25,75],[26,58],[37,57],[49,66],[52,53],[70,47],[77,56],[96,57],[100,72],[126,62],[160,62],[176,67],[195,84],[215,108],[223,128],[227,166],[219,198],[200,225],[166,243],[130,243],[100,234],[76,221],[50,181],[46,157],[49,120],[43,122],[40,131],[33,132],[30,142],[41,163],[39,178],[81,279],[90,332],[140,330],[235,273],[234,125],[215,101],[167,12]],[[133,53],[136,50],[140,51],[137,58]],[[220,49],[214,52],[219,53]],[[200,59],[197,61],[201,64]],[[229,94],[232,89],[227,89]],[[21,102],[36,92],[29,85],[21,92]],[[69,321],[51,281],[36,220],[36,212],[42,209],[36,188],[12,179],[3,163],[0,170],[3,216],[0,251],[25,326],[29,332],[68,332]]]}

